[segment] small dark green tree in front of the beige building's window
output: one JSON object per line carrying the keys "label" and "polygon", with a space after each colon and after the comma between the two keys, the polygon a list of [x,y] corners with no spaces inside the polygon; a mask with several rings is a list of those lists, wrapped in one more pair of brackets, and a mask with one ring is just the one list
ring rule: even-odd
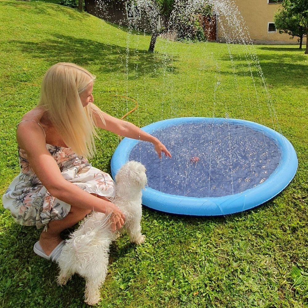
{"label": "small dark green tree in front of the beige building's window", "polygon": [[302,49],[303,38],[307,37],[306,30],[301,26],[298,15],[288,16],[285,10],[278,11],[274,16],[274,24],[280,34],[286,33],[293,39],[298,37],[299,48]]}

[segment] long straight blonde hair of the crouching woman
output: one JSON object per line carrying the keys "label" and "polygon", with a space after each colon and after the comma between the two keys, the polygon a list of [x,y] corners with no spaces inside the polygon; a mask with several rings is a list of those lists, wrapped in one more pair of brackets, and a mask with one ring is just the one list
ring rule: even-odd
{"label": "long straight blonde hair of the crouching woman", "polygon": [[57,63],[43,77],[38,103],[48,111],[65,144],[84,157],[94,155],[94,137],[98,135],[92,117],[95,107],[83,107],[79,95],[94,79],[94,75],[78,65]]}

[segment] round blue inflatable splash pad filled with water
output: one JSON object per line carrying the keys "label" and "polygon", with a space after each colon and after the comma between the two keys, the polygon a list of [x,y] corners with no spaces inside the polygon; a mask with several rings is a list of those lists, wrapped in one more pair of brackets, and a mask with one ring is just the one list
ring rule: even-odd
{"label": "round blue inflatable splash pad filled with water", "polygon": [[278,132],[237,119],[176,118],[142,128],[156,136],[172,158],[160,160],[153,145],[124,138],[111,173],[128,160],[147,169],[143,204],[186,215],[226,215],[260,205],[280,193],[295,175],[293,146]]}

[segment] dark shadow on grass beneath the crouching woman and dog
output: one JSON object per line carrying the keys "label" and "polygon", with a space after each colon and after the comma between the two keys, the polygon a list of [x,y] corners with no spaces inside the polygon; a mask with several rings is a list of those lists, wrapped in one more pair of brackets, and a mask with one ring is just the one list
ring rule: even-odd
{"label": "dark shadow on grass beneath the crouching woman and dog", "polygon": [[[3,212],[3,211],[1,211]],[[1,213],[0,212],[0,213]],[[37,256],[33,245],[42,229],[13,223],[0,240],[1,307],[85,307],[85,280],[78,274],[58,286],[58,265]],[[110,247],[109,264],[135,250],[133,244]]]}

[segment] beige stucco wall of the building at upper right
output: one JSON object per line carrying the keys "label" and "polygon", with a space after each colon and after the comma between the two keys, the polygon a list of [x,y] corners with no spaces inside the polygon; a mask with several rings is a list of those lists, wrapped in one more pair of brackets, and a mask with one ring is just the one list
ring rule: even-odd
{"label": "beige stucco wall of the building at upper right", "polygon": [[[268,32],[268,22],[274,22],[274,15],[281,6],[269,4],[268,0],[233,0],[240,11],[248,28],[253,43],[268,44],[298,44],[297,38],[290,39],[288,34]],[[222,19],[222,22],[223,19]],[[224,39],[219,23],[217,25],[217,39]],[[306,41],[306,39],[304,39]]]}

